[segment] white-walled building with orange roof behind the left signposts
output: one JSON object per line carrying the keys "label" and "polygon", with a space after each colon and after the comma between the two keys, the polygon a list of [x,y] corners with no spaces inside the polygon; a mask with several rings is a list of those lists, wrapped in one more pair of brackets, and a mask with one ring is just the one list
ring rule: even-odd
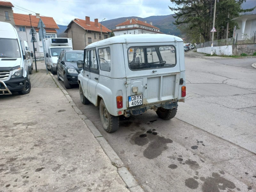
{"label": "white-walled building with orange roof behind the left signposts", "polygon": [[[40,16],[38,13],[36,13],[36,15],[31,15],[30,17],[31,17],[31,24],[36,30],[35,37],[37,42],[35,43],[35,52],[44,52],[42,39],[39,38],[39,34],[38,34],[39,28],[37,28],[39,19],[41,18],[42,21],[44,22],[44,25],[45,25],[44,29],[46,31],[45,37],[48,37],[48,38],[57,37],[56,29],[59,29],[59,27],[52,17],[43,17],[43,16]],[[30,49],[33,49],[33,44],[31,43],[32,36],[29,35],[30,29],[31,29],[29,15],[13,13],[13,18],[14,18],[15,28],[18,31],[20,38],[24,41],[27,41]]]}

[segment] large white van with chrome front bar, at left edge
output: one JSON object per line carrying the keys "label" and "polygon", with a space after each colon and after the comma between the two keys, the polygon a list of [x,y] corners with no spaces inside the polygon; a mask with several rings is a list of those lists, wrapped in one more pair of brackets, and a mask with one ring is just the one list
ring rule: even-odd
{"label": "large white van with chrome front bar, at left edge", "polygon": [[30,92],[29,59],[30,53],[16,29],[10,23],[0,22],[0,95]]}

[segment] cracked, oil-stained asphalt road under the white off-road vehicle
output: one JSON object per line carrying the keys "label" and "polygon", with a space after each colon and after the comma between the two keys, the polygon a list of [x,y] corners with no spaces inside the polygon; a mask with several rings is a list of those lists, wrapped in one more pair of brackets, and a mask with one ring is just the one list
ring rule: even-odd
{"label": "cracked, oil-stained asphalt road under the white off-road vehicle", "polygon": [[145,191],[256,191],[254,62],[186,56],[187,97],[176,118],[150,110],[121,119],[111,134],[99,108],[81,103],[78,86],[67,91]]}

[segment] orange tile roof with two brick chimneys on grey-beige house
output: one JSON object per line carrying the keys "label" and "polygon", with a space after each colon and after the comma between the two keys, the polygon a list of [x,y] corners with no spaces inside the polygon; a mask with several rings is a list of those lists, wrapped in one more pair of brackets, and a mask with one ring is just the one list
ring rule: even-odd
{"label": "orange tile roof with two brick chimneys on grey-beige house", "polygon": [[[100,32],[100,22],[98,23],[99,27],[96,27],[94,22],[92,22],[92,21],[90,21],[90,25],[86,25],[85,20],[77,19],[77,18],[75,18],[71,22],[75,22],[77,25],[79,25],[80,27],[84,28],[85,30],[91,30],[91,31],[98,31],[98,32]],[[71,22],[68,24],[68,28],[71,27]],[[65,32],[68,31],[68,28],[66,29]],[[102,32],[103,33],[108,33],[108,32],[111,32],[111,30],[109,30],[108,28],[106,28],[105,26],[102,25]]]}

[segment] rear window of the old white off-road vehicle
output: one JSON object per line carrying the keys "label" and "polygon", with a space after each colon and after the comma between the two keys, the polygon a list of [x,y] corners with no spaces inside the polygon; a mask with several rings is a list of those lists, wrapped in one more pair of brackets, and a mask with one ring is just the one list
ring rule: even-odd
{"label": "rear window of the old white off-road vehicle", "polygon": [[172,45],[130,47],[128,60],[131,70],[174,67],[176,65],[176,50]]}

